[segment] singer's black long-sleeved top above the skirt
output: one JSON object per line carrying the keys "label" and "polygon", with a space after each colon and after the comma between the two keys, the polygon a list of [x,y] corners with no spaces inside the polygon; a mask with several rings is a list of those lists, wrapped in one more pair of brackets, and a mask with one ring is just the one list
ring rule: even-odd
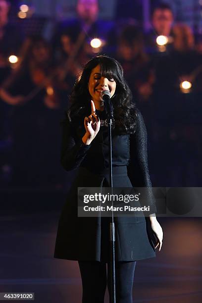
{"label": "singer's black long-sleeved top above the skirt", "polygon": [[[102,113],[100,113],[102,114]],[[93,173],[108,169],[107,127],[101,127],[90,145],[85,145],[82,137],[85,128],[71,128],[63,121],[61,164],[65,170],[85,167]],[[92,148],[91,148],[92,146]],[[137,109],[137,131],[133,135],[117,135],[112,130],[112,166],[128,166],[128,174],[133,186],[151,187],[147,155],[147,130],[140,110]],[[96,159],[96,161],[93,161]],[[99,160],[98,160],[99,159]],[[93,165],[92,165],[93,162]],[[150,213],[156,212],[155,201],[150,200]]]}

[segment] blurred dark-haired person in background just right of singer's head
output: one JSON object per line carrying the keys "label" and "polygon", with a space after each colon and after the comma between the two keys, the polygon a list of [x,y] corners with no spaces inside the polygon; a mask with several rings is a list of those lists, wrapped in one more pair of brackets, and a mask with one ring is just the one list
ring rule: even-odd
{"label": "blurred dark-haired person in background just right of singer's head", "polygon": [[152,94],[154,74],[140,28],[127,25],[122,29],[116,57],[123,66],[136,102],[140,105],[141,101],[147,101]]}

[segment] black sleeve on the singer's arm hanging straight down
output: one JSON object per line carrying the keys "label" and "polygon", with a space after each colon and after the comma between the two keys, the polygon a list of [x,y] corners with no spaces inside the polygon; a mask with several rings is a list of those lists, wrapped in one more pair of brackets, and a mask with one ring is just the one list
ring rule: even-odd
{"label": "black sleeve on the singer's arm hanging straight down", "polygon": [[130,135],[128,176],[133,187],[147,187],[147,205],[150,205],[150,211],[145,213],[149,215],[157,212],[148,168],[147,129],[139,109],[137,109],[136,132]]}

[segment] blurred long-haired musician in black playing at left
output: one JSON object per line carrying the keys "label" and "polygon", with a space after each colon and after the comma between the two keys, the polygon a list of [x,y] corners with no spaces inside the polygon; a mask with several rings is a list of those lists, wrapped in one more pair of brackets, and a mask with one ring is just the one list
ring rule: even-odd
{"label": "blurred long-haired musician in black playing at left", "polygon": [[29,37],[22,46],[18,68],[1,86],[0,98],[12,107],[11,185],[36,187],[57,182],[55,161],[50,165],[51,156],[57,156],[52,140],[59,140],[54,137],[60,113],[51,78],[54,73],[49,43],[42,37]]}

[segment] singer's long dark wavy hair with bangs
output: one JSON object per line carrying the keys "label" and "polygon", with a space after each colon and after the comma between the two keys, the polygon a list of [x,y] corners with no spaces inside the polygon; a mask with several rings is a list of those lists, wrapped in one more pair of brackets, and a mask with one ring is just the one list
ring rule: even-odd
{"label": "singer's long dark wavy hair with bangs", "polygon": [[88,82],[91,71],[100,64],[101,76],[113,78],[116,82],[115,94],[111,98],[114,108],[115,131],[119,134],[133,134],[136,130],[136,103],[132,101],[131,90],[128,87],[123,68],[114,58],[99,55],[89,60],[79,75],[70,95],[70,107],[66,111],[66,117],[72,124],[78,123],[91,113],[91,95]]}

